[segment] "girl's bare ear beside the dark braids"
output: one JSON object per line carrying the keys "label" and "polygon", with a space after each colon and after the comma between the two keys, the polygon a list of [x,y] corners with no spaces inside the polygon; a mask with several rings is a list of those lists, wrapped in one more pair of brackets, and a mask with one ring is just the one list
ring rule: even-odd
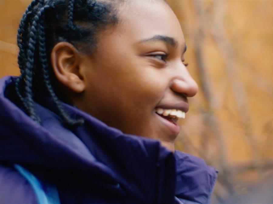
{"label": "girl's bare ear beside the dark braids", "polygon": [[56,79],[76,93],[81,93],[85,89],[79,62],[80,53],[70,43],[59,42],[51,51],[51,64]]}

